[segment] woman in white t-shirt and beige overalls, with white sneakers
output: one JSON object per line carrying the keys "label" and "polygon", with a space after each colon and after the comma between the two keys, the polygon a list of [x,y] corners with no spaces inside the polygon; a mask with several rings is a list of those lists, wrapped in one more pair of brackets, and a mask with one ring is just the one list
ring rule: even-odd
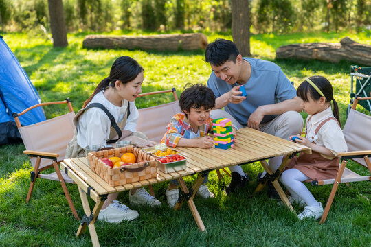
{"label": "woman in white t-shirt and beige overalls, with white sneakers", "polygon": [[[118,139],[133,141],[143,148],[156,144],[148,141],[144,134],[136,132],[139,113],[134,102],[139,93],[142,93],[143,80],[144,69],[133,58],[122,56],[113,62],[109,77],[98,84],[93,95],[76,114],[76,130],[67,147],[66,158],[85,156],[84,148],[87,145],[106,146]],[[113,117],[113,121],[110,117]],[[139,216],[137,211],[115,200],[117,195],[118,193],[109,194],[98,220],[118,223]],[[150,206],[161,204],[143,188],[132,189],[129,192],[129,201],[131,204]]]}

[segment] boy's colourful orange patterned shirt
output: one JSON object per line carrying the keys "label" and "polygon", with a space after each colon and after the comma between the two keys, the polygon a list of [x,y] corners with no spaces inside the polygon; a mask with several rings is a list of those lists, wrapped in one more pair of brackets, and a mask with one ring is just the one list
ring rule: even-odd
{"label": "boy's colourful orange patterned shirt", "polygon": [[[200,137],[204,137],[208,132],[212,132],[212,118],[206,120],[205,124],[199,126]],[[190,134],[193,131],[190,122],[184,113],[178,113],[170,120],[170,124],[166,126],[166,133],[161,139],[161,143],[165,143],[168,147],[176,147],[179,140],[184,137],[190,139]]]}

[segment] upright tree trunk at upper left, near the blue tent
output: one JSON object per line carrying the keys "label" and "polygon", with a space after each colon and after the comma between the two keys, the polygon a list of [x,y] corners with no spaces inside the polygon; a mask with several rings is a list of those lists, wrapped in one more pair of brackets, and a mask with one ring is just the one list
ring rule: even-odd
{"label": "upright tree trunk at upper left, near the blue tent", "polygon": [[53,36],[53,47],[66,47],[67,31],[62,0],[47,0],[49,5],[50,29]]}

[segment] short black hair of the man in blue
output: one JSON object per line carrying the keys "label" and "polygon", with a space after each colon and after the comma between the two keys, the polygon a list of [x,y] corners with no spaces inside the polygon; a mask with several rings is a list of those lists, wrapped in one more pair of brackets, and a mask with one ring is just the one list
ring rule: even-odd
{"label": "short black hair of the man in blue", "polygon": [[217,39],[206,47],[205,61],[215,66],[221,66],[227,61],[236,62],[240,54],[237,46],[231,40]]}

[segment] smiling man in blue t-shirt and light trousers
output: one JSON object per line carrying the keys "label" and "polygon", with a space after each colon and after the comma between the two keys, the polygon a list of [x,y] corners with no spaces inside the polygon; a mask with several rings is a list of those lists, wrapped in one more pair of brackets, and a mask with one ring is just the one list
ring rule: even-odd
{"label": "smiling man in blue t-shirt and light trousers", "polygon": [[[205,61],[212,69],[207,86],[216,95],[215,109],[225,109],[213,110],[212,118],[227,117],[236,128],[248,126],[283,139],[302,131],[304,121],[298,113],[302,111],[301,99],[276,64],[243,58],[236,45],[224,39],[207,45]],[[241,96],[240,87],[245,88],[247,96]],[[271,158],[269,167],[276,171],[281,163],[282,156]],[[229,169],[232,182],[225,189],[228,194],[248,181],[240,166]],[[278,196],[273,185],[268,194],[271,198]]]}

